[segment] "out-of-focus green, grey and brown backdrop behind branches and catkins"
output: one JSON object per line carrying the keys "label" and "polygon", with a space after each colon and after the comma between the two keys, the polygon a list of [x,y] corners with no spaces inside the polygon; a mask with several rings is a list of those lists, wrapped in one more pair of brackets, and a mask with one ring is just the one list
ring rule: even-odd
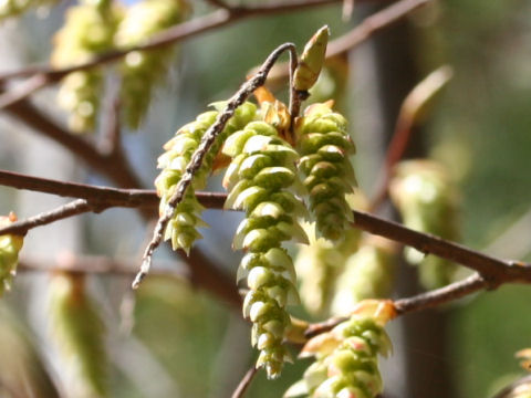
{"label": "out-of-focus green, grey and brown backdrop behind branches and catkins", "polygon": [[[2,21],[1,71],[45,62],[69,6]],[[195,15],[209,10],[202,1],[192,6]],[[123,135],[144,186],[153,187],[156,158],[175,130],[208,104],[229,97],[275,46],[292,41],[302,49],[325,23],[332,39],[337,38],[377,9],[356,3],[346,22],[341,4],[254,18],[180,44],[170,83],[157,90],[146,122],[138,132]],[[531,2],[523,0],[434,1],[351,51],[343,82],[322,88],[323,95],[337,95],[339,106],[348,115],[360,187],[372,197],[402,101],[431,71],[450,65],[454,77],[415,128],[407,156],[439,160],[457,181],[464,244],[522,261],[531,261],[530,14]],[[46,88],[33,101],[64,123],[65,115],[54,105],[55,92]],[[12,118],[1,116],[0,142],[2,169],[110,185]],[[221,190],[219,180],[209,188]],[[63,199],[53,196],[0,187],[2,214],[13,210],[23,219],[61,203]],[[393,217],[389,208],[381,214]],[[199,243],[230,274],[240,258],[230,250],[240,218],[207,211],[211,228]],[[71,256],[86,261],[108,256],[134,269],[150,233],[152,227],[134,210],[111,209],[32,230],[21,262],[52,269]],[[170,275],[148,276],[135,295],[129,290],[132,275],[85,276],[91,305],[103,323],[94,333],[105,331],[101,348],[108,364],[102,364],[105,371],[95,373],[103,371],[97,377],[108,386],[107,396],[230,396],[254,360],[248,324],[238,310],[177,276],[186,268],[167,248],[157,252],[155,268]],[[51,274],[22,269],[0,302],[1,397],[75,397],[61,338],[54,337],[58,331],[51,325],[50,290],[61,277]],[[407,265],[400,265],[398,280],[394,296],[418,292]],[[528,286],[503,286],[398,320],[389,327],[395,355],[384,363],[385,397],[489,397],[520,374],[513,354],[531,346],[530,302]],[[282,396],[308,364],[288,365],[275,381],[260,373],[248,396]]]}

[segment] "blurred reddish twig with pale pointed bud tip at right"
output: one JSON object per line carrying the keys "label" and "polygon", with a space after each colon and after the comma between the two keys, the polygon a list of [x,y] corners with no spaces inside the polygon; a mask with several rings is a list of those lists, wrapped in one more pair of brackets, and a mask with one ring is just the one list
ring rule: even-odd
{"label": "blurred reddish twig with pale pointed bud tip at right", "polygon": [[402,103],[395,132],[387,147],[384,170],[379,188],[371,203],[371,211],[375,211],[387,198],[388,186],[393,169],[402,160],[412,138],[413,127],[424,116],[425,108],[430,100],[451,80],[454,72],[450,66],[444,65],[431,72],[418,83]]}

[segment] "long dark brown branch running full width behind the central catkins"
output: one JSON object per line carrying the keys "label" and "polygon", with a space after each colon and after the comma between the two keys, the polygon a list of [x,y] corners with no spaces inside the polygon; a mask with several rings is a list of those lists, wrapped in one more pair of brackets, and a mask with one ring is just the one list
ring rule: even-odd
{"label": "long dark brown branch running full width behind the central catkins", "polygon": [[[55,193],[56,190],[60,196],[86,199],[87,201],[93,201],[101,208],[140,207],[149,210],[158,207],[158,197],[154,190],[94,187],[23,176],[1,170],[0,185],[46,193]],[[202,192],[198,193],[198,198],[206,207],[221,209],[226,195]],[[353,226],[355,228],[472,269],[481,274],[488,283],[489,289],[494,289],[499,284],[507,282],[531,283],[531,264],[489,256],[458,243],[428,233],[414,231],[399,223],[366,212],[353,211],[353,214],[355,220]]]}

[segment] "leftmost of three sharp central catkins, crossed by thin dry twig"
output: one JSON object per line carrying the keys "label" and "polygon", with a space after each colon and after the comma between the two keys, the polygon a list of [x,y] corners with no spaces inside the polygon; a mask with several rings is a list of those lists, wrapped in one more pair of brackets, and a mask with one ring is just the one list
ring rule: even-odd
{"label": "leftmost of three sharp central catkins, crossed by thin dry twig", "polygon": [[[222,103],[215,104],[215,106],[221,108]],[[164,239],[171,240],[174,250],[183,249],[189,253],[194,242],[201,238],[197,228],[206,227],[206,223],[200,218],[204,208],[196,199],[195,190],[205,188],[207,177],[225,139],[251,122],[256,111],[256,105],[251,103],[244,103],[239,106],[207,154],[199,172],[194,178],[192,185],[187,189],[184,200],[175,209],[174,216],[166,228]],[[155,179],[155,187],[160,197],[160,214],[166,210],[175,187],[191,159],[191,155],[217,116],[218,111],[210,111],[199,115],[196,121],[179,128],[175,136],[164,146],[166,151],[158,158],[158,168],[162,171]]]}

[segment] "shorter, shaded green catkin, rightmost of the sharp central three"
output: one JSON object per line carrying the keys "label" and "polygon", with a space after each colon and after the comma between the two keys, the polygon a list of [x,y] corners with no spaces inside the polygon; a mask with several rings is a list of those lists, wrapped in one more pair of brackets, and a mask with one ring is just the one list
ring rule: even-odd
{"label": "shorter, shaded green catkin, rightmost of the sharp central three", "polygon": [[356,185],[348,155],[355,146],[346,132],[346,119],[331,103],[313,104],[296,126],[299,170],[310,196],[310,210],[319,235],[339,241],[353,221],[345,195]]}

